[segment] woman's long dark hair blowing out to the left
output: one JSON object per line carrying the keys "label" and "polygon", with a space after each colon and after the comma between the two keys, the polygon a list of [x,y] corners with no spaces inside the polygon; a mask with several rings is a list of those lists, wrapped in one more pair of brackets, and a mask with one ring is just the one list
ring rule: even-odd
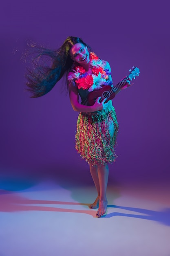
{"label": "woman's long dark hair blowing out to the left", "polygon": [[[26,70],[26,86],[32,93],[31,98],[38,98],[48,93],[54,85],[72,70],[73,60],[69,51],[76,43],[82,43],[91,51],[91,47],[83,42],[82,38],[68,36],[57,50],[29,43],[26,56],[31,56],[31,68]],[[26,57],[27,58],[27,57]]]}

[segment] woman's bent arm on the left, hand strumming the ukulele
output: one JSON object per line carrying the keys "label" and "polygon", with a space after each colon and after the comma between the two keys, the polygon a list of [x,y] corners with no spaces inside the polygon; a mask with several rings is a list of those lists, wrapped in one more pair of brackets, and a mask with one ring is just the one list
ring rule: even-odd
{"label": "woman's bent arm on the left, hand strumming the ukulele", "polygon": [[76,86],[74,86],[71,82],[68,83],[68,89],[69,89],[69,96],[70,96],[70,102],[71,106],[73,107],[74,111],[78,112],[95,112],[102,109],[105,109],[108,107],[108,103],[105,103],[106,99],[104,99],[102,102],[99,102],[99,99],[101,97],[98,97],[95,101],[95,104],[93,106],[84,106],[79,103],[79,96],[78,96],[78,89]]}

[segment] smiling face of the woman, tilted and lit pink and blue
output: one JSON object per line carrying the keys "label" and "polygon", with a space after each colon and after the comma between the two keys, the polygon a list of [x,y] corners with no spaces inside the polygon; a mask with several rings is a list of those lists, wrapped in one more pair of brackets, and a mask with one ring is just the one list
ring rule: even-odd
{"label": "smiling face of the woman, tilted and lit pink and blue", "polygon": [[88,64],[90,61],[87,46],[82,43],[76,43],[70,49],[70,56],[73,61],[79,64]]}

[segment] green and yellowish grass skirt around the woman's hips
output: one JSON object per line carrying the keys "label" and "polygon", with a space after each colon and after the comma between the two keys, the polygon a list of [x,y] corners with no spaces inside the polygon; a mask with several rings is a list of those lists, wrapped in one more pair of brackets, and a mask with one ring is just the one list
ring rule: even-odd
{"label": "green and yellowish grass skirt around the woman's hips", "polygon": [[[109,126],[114,125],[113,137]],[[115,108],[110,106],[106,110],[79,113],[75,148],[86,162],[93,165],[106,165],[115,162],[116,137],[118,123]]]}

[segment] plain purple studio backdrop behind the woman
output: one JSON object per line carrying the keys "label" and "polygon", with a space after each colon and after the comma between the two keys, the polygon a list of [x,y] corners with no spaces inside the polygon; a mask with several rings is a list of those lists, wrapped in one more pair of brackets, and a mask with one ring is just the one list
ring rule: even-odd
{"label": "plain purple studio backdrop behind the woman", "polygon": [[[47,5],[48,4],[48,5]],[[17,176],[56,174],[91,182],[88,165],[74,148],[78,113],[62,81],[38,99],[25,92],[26,65],[20,61],[26,40],[57,49],[67,36],[79,36],[109,61],[113,83],[132,66],[134,85],[113,100],[120,131],[116,182],[170,178],[169,93],[170,29],[166,2],[14,1],[1,15],[0,167]],[[15,54],[13,53],[15,52]],[[87,178],[87,179],[86,179]],[[86,179],[86,180],[84,180]]]}

